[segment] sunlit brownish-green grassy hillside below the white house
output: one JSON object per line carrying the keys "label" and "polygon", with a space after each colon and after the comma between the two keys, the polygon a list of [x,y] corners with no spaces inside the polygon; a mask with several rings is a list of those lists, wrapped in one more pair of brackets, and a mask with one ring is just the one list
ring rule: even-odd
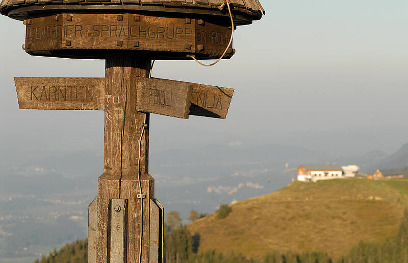
{"label": "sunlit brownish-green grassy hillside below the white house", "polygon": [[362,240],[380,243],[395,236],[407,205],[408,180],[293,182],[232,205],[225,219],[212,214],[188,229],[200,234],[198,252],[324,251],[337,257]]}

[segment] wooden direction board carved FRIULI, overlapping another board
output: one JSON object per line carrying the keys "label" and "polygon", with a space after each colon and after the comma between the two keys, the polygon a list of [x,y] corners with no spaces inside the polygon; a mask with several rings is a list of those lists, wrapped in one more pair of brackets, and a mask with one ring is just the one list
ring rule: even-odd
{"label": "wooden direction board carved FRIULI, overlapping another board", "polygon": [[174,80],[137,78],[136,110],[188,118],[193,85]]}

